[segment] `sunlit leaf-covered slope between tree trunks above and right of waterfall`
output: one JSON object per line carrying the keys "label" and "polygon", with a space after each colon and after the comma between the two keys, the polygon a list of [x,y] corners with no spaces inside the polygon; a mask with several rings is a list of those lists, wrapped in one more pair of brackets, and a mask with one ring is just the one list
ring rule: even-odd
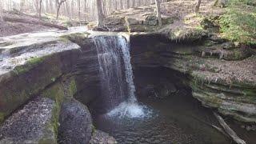
{"label": "sunlit leaf-covered slope between tree trunks above and right of waterfall", "polygon": [[[224,10],[214,6],[214,2],[215,0],[202,1],[199,14],[194,13],[194,7],[196,4],[194,0],[163,2],[161,3],[162,18],[177,18],[174,23],[170,25],[171,29],[200,26],[200,20],[203,16],[218,16],[223,13]],[[148,5],[138,6],[128,10],[119,10],[114,12],[112,15],[143,20],[146,16],[154,13],[155,6]]]}

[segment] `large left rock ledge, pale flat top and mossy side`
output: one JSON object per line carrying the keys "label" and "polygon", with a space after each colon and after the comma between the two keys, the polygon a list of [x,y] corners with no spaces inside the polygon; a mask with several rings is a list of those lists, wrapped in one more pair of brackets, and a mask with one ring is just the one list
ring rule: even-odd
{"label": "large left rock ledge, pale flat top and mossy side", "polygon": [[79,46],[70,41],[24,36],[2,38],[6,44],[0,56],[0,119],[69,73],[78,58]]}

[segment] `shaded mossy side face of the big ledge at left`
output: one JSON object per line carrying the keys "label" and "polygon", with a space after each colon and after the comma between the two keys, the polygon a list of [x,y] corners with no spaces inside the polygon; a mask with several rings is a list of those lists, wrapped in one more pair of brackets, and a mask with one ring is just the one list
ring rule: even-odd
{"label": "shaded mossy side face of the big ledge at left", "polygon": [[77,58],[77,50],[67,50],[42,58],[31,58],[25,65],[16,66],[0,83],[0,113],[9,115],[22,106],[54,79],[72,70]]}

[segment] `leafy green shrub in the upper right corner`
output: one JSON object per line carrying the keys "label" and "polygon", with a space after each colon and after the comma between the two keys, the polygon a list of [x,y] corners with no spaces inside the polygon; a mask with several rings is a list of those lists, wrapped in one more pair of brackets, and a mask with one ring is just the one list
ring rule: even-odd
{"label": "leafy green shrub in the upper right corner", "polygon": [[224,38],[256,46],[256,1],[230,0],[219,24]]}

